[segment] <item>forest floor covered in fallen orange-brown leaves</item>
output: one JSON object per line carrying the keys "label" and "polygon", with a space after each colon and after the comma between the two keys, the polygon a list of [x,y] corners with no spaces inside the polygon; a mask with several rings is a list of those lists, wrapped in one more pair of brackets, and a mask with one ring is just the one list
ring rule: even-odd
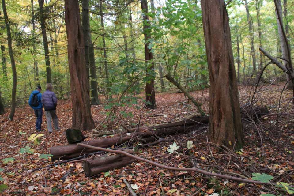
{"label": "forest floor covered in fallen orange-brown leaves", "polygon": [[[163,142],[156,146],[141,148],[134,155],[153,160],[159,164],[171,167],[190,168],[189,154],[194,159],[198,168],[210,172],[232,175],[240,178],[251,179],[252,173],[266,173],[273,176],[272,182],[294,183],[294,118],[292,91],[284,91],[283,85],[264,85],[258,89],[255,105],[267,106],[269,115],[255,123],[243,120],[244,138],[246,145],[239,151],[217,152],[215,145],[208,143],[207,130],[198,130],[193,135],[170,136],[179,146],[176,152],[169,154],[167,151],[173,142]],[[191,93],[195,99],[203,104],[203,110],[209,114],[208,90]],[[251,96],[250,96],[251,94]],[[240,104],[251,101],[253,90],[251,87],[240,86]],[[101,97],[102,98],[102,97]],[[156,93],[156,110],[127,108],[133,112],[133,117],[123,119],[128,127],[137,124],[141,116],[140,126],[173,122],[193,112],[196,108],[188,104],[182,93]],[[103,102],[103,98],[102,98]],[[183,103],[184,102],[184,103]],[[47,133],[47,123],[43,114],[43,132],[35,131],[36,118],[33,110],[28,105],[17,107],[13,121],[8,122],[8,114],[0,116],[0,175],[3,180],[0,187],[4,188],[2,195],[130,195],[123,179],[126,179],[134,188],[137,195],[285,195],[287,191],[274,186],[247,184],[219,179],[196,172],[169,171],[150,164],[135,161],[125,168],[117,168],[92,178],[85,177],[82,162],[67,163],[32,171],[52,163],[42,158],[42,154],[50,154],[50,147],[67,144],[65,131],[71,127],[72,105],[70,101],[59,100],[57,115],[61,130]],[[91,107],[92,116],[98,125],[105,115],[104,106]],[[8,112],[9,109],[6,109]],[[162,115],[158,115],[162,114]],[[99,126],[97,130],[114,131],[115,134],[122,128],[114,122],[106,122],[107,128]],[[32,134],[43,133],[39,137],[40,144],[28,141]],[[86,140],[99,138],[95,133],[85,133]],[[111,137],[111,136],[106,136]],[[105,138],[105,136],[104,136]],[[187,149],[187,142],[192,141],[193,147]],[[262,141],[262,143],[261,143]],[[134,144],[135,145],[135,144]],[[26,146],[32,148],[30,153],[21,153]],[[27,147],[27,148],[28,148]],[[209,150],[212,149],[211,151]],[[28,149],[27,149],[28,151]],[[6,159],[8,158],[8,159]],[[14,158],[14,159],[11,159]],[[3,160],[6,159],[6,160]],[[74,171],[65,180],[62,176],[70,168]],[[32,172],[31,172],[32,171]],[[5,184],[5,185],[4,185]],[[0,189],[1,189],[0,188]]]}

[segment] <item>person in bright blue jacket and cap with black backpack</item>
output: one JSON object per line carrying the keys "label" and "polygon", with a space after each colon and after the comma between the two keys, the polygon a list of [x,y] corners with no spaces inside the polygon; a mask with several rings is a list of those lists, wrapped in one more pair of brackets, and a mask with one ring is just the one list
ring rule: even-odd
{"label": "person in bright blue jacket and cap with black backpack", "polygon": [[[43,117],[43,105],[41,102],[42,99],[42,94],[41,94],[41,90],[42,88],[40,86],[37,86],[36,90],[34,90],[30,96],[30,99],[28,100],[28,104],[34,109],[35,115],[37,117],[36,120],[36,130],[38,131],[42,131],[42,117]],[[32,97],[38,94],[38,101],[39,101],[39,105],[38,106],[33,106],[31,101],[32,101]]]}

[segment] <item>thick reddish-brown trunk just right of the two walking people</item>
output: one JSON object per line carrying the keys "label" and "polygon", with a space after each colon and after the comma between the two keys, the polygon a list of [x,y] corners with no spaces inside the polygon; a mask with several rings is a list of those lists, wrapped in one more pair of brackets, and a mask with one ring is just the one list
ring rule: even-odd
{"label": "thick reddish-brown trunk just right of the two walking people", "polygon": [[84,37],[78,0],[65,0],[65,24],[67,35],[70,90],[73,103],[72,128],[95,128],[90,110],[89,80],[87,78]]}

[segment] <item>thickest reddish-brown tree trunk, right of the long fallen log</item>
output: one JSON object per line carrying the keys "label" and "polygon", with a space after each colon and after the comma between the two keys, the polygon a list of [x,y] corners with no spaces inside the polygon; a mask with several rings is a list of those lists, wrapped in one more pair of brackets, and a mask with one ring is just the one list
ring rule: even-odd
{"label": "thickest reddish-brown tree trunk, right of the long fallen log", "polygon": [[228,13],[224,0],[201,0],[209,70],[210,141],[242,148],[243,126],[238,99]]}

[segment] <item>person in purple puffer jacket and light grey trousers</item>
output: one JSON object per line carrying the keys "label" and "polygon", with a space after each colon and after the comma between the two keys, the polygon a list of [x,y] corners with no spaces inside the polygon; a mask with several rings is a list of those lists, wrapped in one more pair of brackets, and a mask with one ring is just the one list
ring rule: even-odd
{"label": "person in purple puffer jacket and light grey trousers", "polygon": [[51,119],[53,119],[54,129],[60,130],[60,128],[58,127],[58,117],[56,115],[57,98],[52,90],[53,86],[48,83],[46,85],[46,91],[43,93],[41,99],[47,119],[48,133],[52,133]]}

